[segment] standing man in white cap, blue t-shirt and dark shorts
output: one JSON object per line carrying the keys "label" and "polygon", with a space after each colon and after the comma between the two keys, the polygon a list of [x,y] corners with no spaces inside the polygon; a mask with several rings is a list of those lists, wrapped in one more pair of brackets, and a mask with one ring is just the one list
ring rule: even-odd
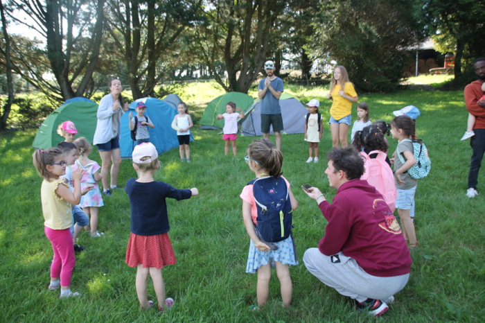
{"label": "standing man in white cap, blue t-shirt and dark shorts", "polygon": [[283,119],[279,98],[283,93],[283,80],[274,75],[274,62],[265,62],[266,77],[259,82],[258,97],[261,99],[261,132],[263,138],[270,140],[270,126],[273,125],[276,149],[281,150],[281,131]]}

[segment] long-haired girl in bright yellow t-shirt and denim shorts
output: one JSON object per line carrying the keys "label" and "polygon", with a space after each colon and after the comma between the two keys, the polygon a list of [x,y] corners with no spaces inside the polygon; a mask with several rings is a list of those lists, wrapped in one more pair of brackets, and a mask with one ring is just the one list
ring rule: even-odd
{"label": "long-haired girl in bright yellow t-shirt and denim shorts", "polygon": [[330,107],[330,121],[328,121],[332,133],[332,146],[338,147],[339,143],[342,147],[349,146],[347,137],[352,124],[352,103],[357,103],[359,97],[345,67],[341,65],[335,67],[327,98],[333,101]]}

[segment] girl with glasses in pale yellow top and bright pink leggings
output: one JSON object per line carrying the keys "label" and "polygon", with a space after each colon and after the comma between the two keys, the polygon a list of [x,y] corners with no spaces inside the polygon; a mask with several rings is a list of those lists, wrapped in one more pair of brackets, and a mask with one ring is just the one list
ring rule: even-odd
{"label": "girl with glasses in pale yellow top and bright pink leggings", "polygon": [[91,189],[81,191],[82,168],[73,171],[74,192],[69,190],[60,176],[66,173],[65,155],[58,148],[36,150],[33,164],[44,177],[40,189],[44,232],[51,241],[54,257],[51,263],[51,283],[49,290],[61,288],[60,298],[78,296],[71,292],[71,277],[76,259],[71,236],[72,204],[79,204],[81,195]]}

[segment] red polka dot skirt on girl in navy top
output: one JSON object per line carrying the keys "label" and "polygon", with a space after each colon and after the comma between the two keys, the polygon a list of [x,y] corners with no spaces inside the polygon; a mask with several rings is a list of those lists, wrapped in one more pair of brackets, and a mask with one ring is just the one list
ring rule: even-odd
{"label": "red polka dot skirt on girl in navy top", "polygon": [[126,249],[125,263],[130,267],[140,264],[143,268],[164,268],[166,265],[175,265],[177,259],[173,253],[172,243],[168,233],[157,236],[138,236],[130,234]]}

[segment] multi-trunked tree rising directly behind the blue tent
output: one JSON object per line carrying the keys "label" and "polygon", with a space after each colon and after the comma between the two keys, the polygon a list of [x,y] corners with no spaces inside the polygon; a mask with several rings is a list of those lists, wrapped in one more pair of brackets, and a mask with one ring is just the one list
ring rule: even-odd
{"label": "multi-trunked tree rising directly behind the blue tent", "polygon": [[200,19],[202,0],[108,1],[109,36],[122,53],[133,98],[153,96],[164,77],[163,64],[179,49],[182,32]]}

